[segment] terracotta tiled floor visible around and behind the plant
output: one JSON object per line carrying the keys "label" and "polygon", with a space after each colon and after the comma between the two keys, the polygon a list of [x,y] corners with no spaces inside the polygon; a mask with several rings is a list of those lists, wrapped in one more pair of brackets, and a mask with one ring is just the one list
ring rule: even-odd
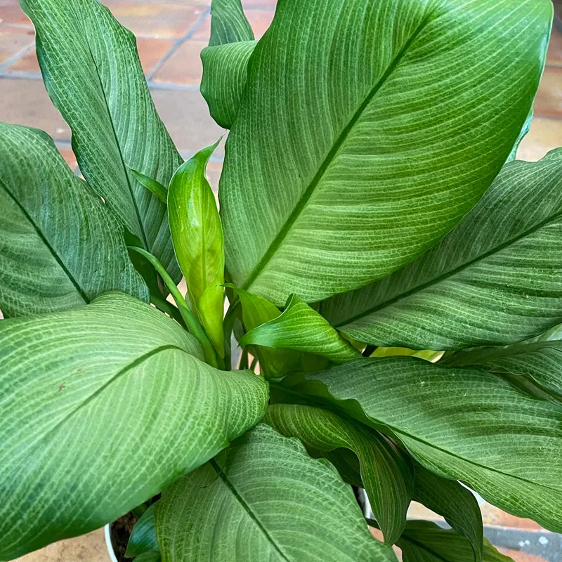
{"label": "terracotta tiled floor visible around and behind the plant", "polygon": [[[273,18],[276,0],[245,0],[247,16],[256,37]],[[558,1],[558,0],[556,0]],[[106,0],[112,13],[138,38],[138,51],[157,109],[184,157],[209,145],[223,134],[209,117],[198,85],[202,66],[200,51],[207,44],[211,0]],[[0,121],[39,127],[56,141],[60,152],[75,169],[70,129],[54,109],[44,86],[34,53],[34,32],[16,0],[0,0]],[[535,119],[521,145],[519,157],[540,159],[562,146],[562,33],[553,32],[547,69],[535,103]],[[216,187],[223,148],[209,163],[209,178]],[[488,525],[535,530],[537,525],[489,506],[483,506]],[[523,541],[524,543],[524,541]],[[517,562],[540,562],[540,556],[524,554],[515,543],[505,553]],[[21,558],[22,562],[107,562],[103,532],[51,545]]]}

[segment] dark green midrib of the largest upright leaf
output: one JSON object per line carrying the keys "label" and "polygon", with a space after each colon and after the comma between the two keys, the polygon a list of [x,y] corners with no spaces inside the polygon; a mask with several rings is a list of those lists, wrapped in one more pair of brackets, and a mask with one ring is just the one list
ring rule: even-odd
{"label": "dark green midrib of the largest upright leaf", "polygon": [[353,129],[355,124],[358,122],[358,120],[360,119],[363,112],[367,109],[367,106],[371,103],[374,96],[377,95],[377,93],[382,88],[382,86],[384,86],[384,84],[386,83],[388,78],[391,76],[391,74],[396,70],[396,67],[398,67],[401,60],[405,57],[407,51],[410,49],[410,47],[414,43],[415,39],[418,37],[418,35],[421,33],[421,31],[424,29],[424,27],[428,24],[429,20],[430,20],[430,16],[426,15],[426,17],[424,18],[424,20],[421,21],[421,23],[419,24],[417,29],[414,31],[414,33],[412,34],[410,39],[408,39],[406,41],[405,45],[400,50],[398,55],[396,55],[396,57],[392,60],[390,65],[388,65],[388,68],[386,69],[386,72],[384,72],[384,74],[382,75],[381,79],[379,79],[379,81],[377,81],[377,84],[375,84],[372,87],[372,89],[370,90],[370,92],[367,93],[367,96],[365,97],[365,100],[363,100],[363,102],[358,107],[358,109],[355,110],[355,113],[351,117],[351,120],[348,122],[348,124],[343,129],[343,131],[341,131],[341,133],[340,133],[339,137],[336,139],[336,142],[334,143],[334,145],[332,145],[332,148],[327,153],[327,155],[326,155],[325,159],[323,160],[322,164],[320,164],[320,168],[316,172],[316,174],[313,177],[311,183],[308,184],[306,190],[304,190],[304,192],[301,195],[299,201],[296,203],[296,205],[295,205],[294,209],[292,210],[291,214],[289,215],[289,217],[285,221],[285,224],[281,227],[280,231],[277,233],[277,236],[275,237],[273,242],[271,242],[268,249],[266,250],[266,253],[263,254],[261,260],[256,265],[254,270],[250,273],[249,277],[247,277],[247,280],[242,285],[242,289],[248,289],[249,287],[251,287],[252,283],[256,280],[256,278],[261,273],[263,268],[265,268],[267,266],[267,264],[269,263],[269,261],[273,258],[273,256],[275,255],[275,252],[279,249],[280,245],[285,240],[285,237],[287,237],[287,234],[289,233],[289,230],[291,230],[292,226],[296,222],[296,219],[299,218],[299,216],[300,216],[301,212],[303,211],[304,207],[306,207],[306,204],[308,203],[308,200],[311,199],[311,197],[312,197],[312,195],[315,191],[315,188],[318,186],[318,183],[320,183],[320,181],[322,180],[322,177],[324,176],[325,172],[327,171],[329,165],[332,164],[332,161],[336,158],[339,150],[341,149],[341,146],[346,141],[346,138],[348,137],[349,133],[351,132],[351,130]]}

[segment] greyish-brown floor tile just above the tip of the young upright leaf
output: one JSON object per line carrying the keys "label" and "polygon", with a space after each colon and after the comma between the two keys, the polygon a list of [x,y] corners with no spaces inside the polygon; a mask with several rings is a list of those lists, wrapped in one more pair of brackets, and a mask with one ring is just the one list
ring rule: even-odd
{"label": "greyish-brown floor tile just above the tip of the young upright leaf", "polygon": [[[193,154],[224,134],[209,115],[207,104],[192,90],[152,90],[157,110],[182,153]],[[223,156],[223,143],[215,151]]]}

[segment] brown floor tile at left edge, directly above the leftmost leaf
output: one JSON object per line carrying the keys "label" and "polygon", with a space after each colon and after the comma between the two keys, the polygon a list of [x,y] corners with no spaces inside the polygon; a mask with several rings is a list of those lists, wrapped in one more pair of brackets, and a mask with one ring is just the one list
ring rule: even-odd
{"label": "brown floor tile at left edge, directly above the leftmost leaf", "polygon": [[56,141],[70,141],[70,127],[41,80],[1,78],[0,121],[43,129]]}

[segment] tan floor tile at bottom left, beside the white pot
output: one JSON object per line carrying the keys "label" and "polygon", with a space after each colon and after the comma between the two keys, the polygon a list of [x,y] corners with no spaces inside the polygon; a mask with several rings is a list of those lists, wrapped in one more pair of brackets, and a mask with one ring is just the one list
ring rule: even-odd
{"label": "tan floor tile at bottom left, beside the white pot", "polygon": [[110,562],[103,529],[75,539],[61,540],[17,558],[16,562]]}

